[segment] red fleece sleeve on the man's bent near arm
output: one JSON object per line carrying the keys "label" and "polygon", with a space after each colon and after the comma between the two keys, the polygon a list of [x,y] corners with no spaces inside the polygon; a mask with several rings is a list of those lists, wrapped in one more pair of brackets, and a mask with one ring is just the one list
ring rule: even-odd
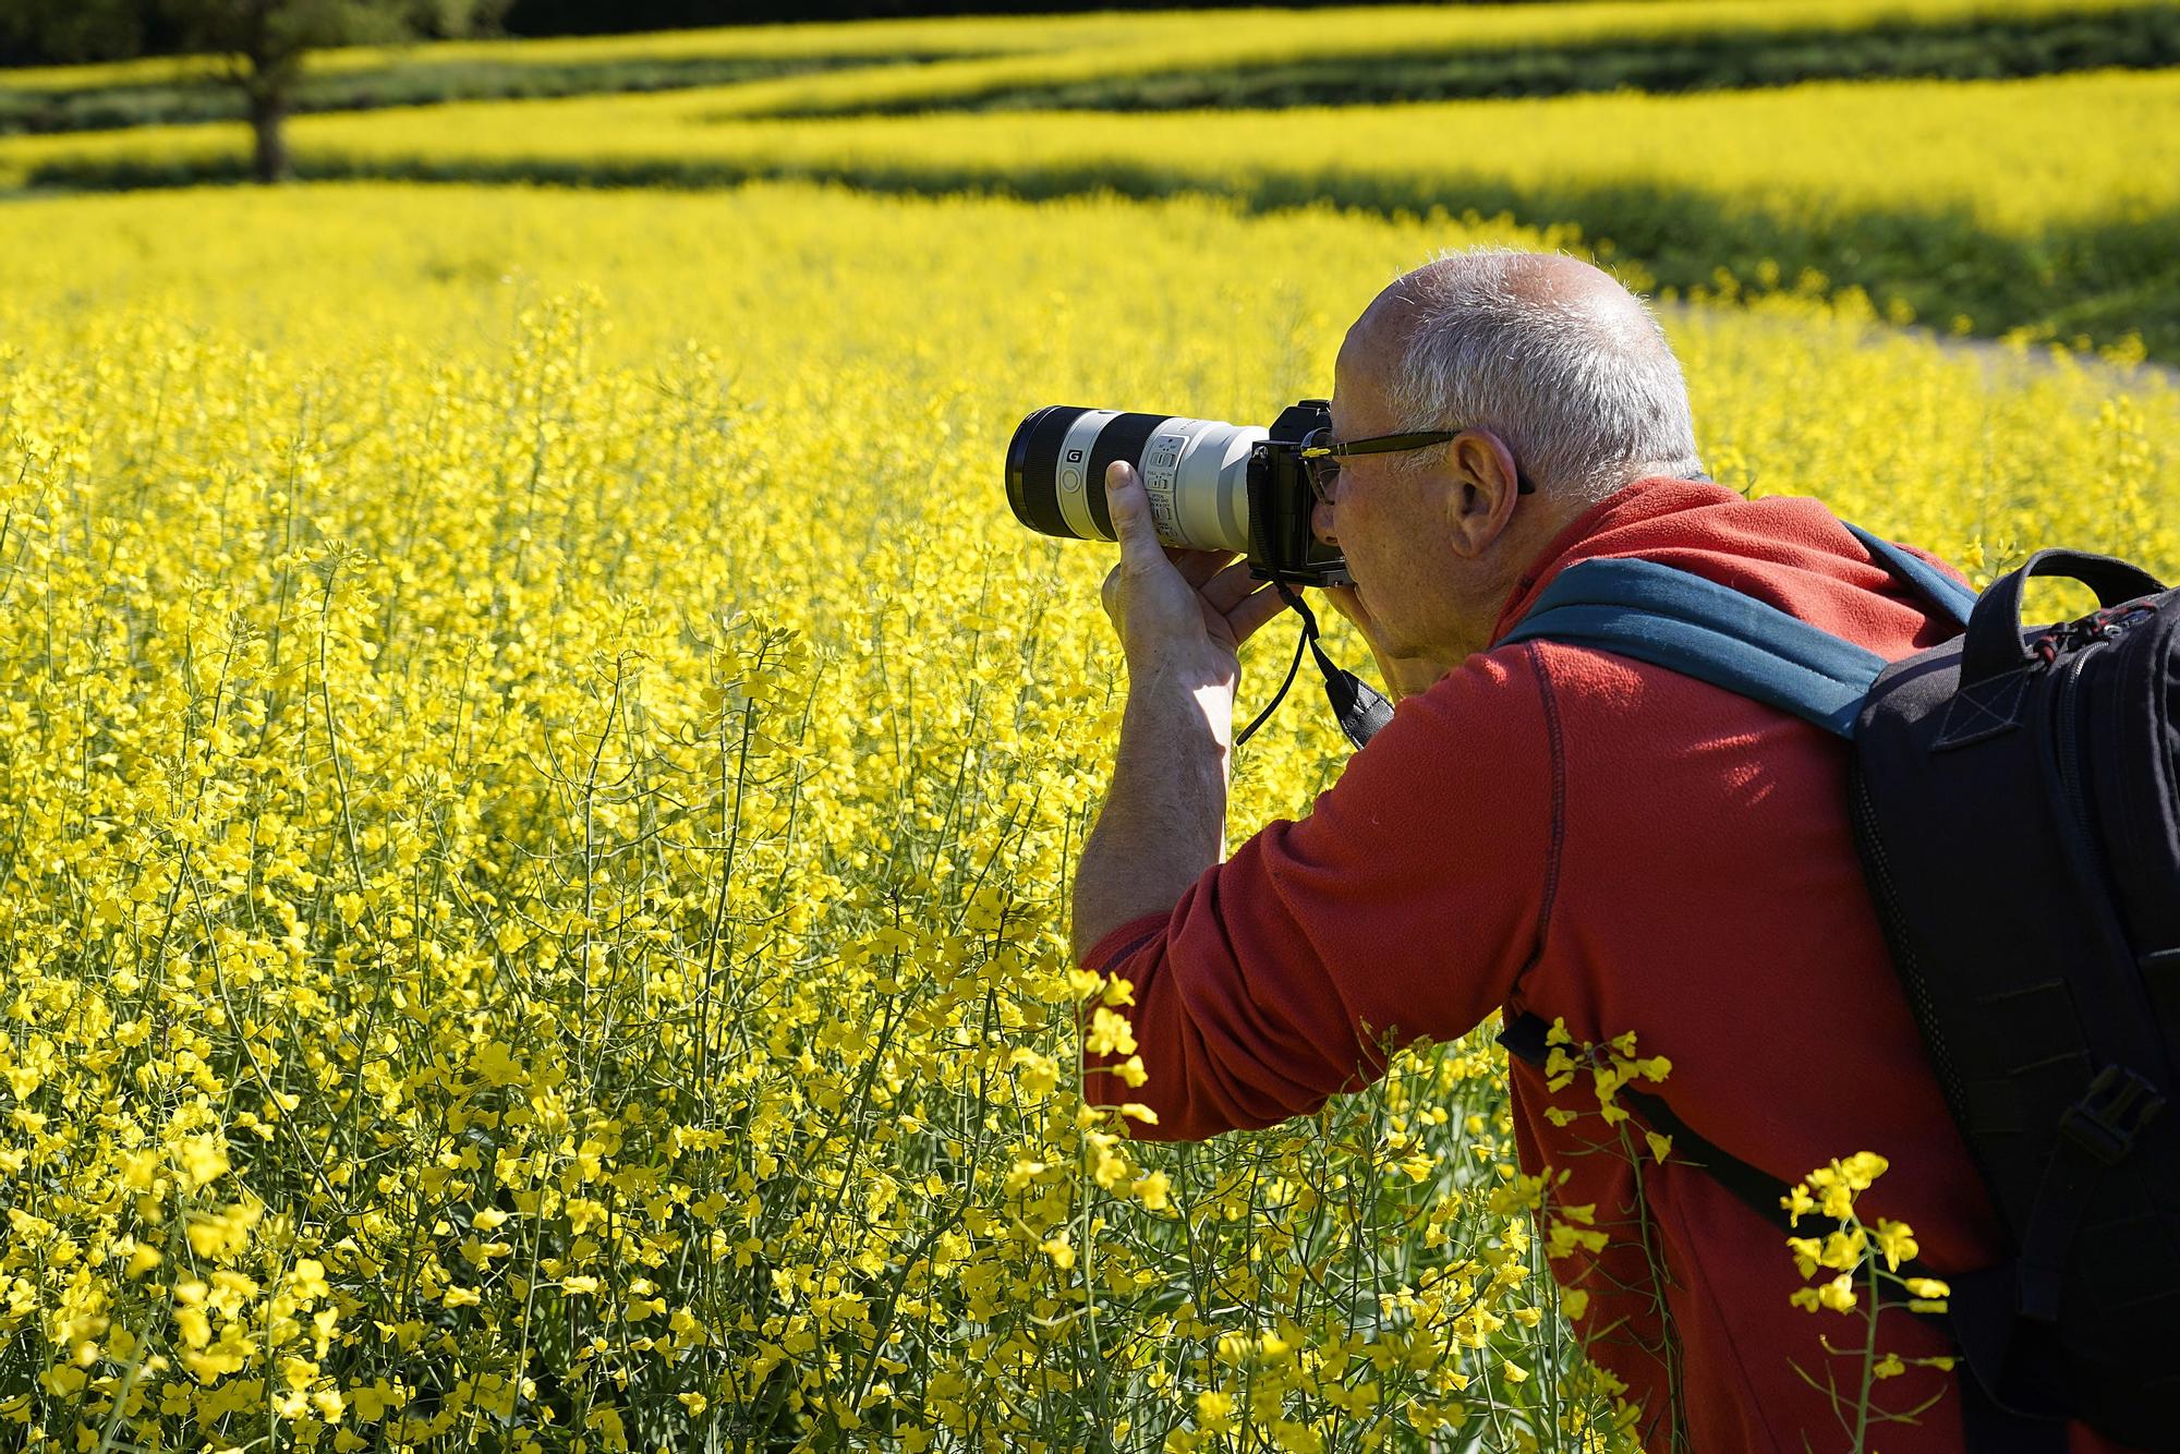
{"label": "red fleece sleeve on the man's bent near arm", "polygon": [[1408,698],[1301,822],[1273,822],[1164,918],[1083,961],[1134,985],[1147,1079],[1083,1059],[1136,1136],[1201,1140],[1315,1112],[1384,1073],[1380,1044],[1452,1040],[1533,959],[1557,857],[1554,724],[1530,647],[1469,656]]}

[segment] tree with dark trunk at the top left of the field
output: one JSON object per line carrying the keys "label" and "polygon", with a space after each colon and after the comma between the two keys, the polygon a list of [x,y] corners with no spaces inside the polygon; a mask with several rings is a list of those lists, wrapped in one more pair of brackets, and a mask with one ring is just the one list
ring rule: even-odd
{"label": "tree with dark trunk at the top left of the field", "polygon": [[303,81],[303,57],[325,46],[368,46],[421,35],[469,35],[508,0],[155,0],[183,48],[227,57],[227,78],[249,100],[257,137],[253,174],[283,181],[283,124]]}

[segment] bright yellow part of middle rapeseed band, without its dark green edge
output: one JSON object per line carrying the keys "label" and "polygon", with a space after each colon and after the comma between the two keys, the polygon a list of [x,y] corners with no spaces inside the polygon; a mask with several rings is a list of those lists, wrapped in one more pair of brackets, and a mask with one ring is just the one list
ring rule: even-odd
{"label": "bright yellow part of middle rapeseed band, without its dark green edge", "polygon": [[[741,116],[763,85],[774,83],[307,116],[292,142],[305,172],[451,179],[835,177],[1029,196],[1201,190],[1258,205],[1408,211],[1487,194],[1535,198],[1526,209],[1543,216],[1570,194],[1622,187],[1679,198],[1692,207],[1690,229],[1709,214],[1764,214],[1781,231],[1809,231],[1884,211],[2034,240],[2180,209],[2173,72],[1291,111]],[[246,144],[244,126],[225,124],[7,137],[0,179],[113,163],[187,172],[240,163]]]}

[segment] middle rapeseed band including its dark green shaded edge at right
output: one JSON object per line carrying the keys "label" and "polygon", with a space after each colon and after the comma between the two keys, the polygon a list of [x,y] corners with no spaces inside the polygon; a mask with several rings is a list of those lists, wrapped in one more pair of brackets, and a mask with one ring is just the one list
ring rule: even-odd
{"label": "middle rapeseed band including its dark green shaded edge at right", "polygon": [[[1894,318],[2180,358],[2180,74],[1820,83],[1705,96],[841,120],[750,87],[320,116],[310,177],[724,185],[837,179],[1016,196],[1214,192],[1260,209],[1574,225],[1681,292],[1857,286]],[[240,129],[0,142],[0,183],[240,177]]]}

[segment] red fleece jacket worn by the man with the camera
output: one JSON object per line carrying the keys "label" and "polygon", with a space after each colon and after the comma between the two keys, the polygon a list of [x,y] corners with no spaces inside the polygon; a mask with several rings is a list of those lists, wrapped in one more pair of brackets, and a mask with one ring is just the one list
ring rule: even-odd
{"label": "red fleece jacket worn by the man with the camera", "polygon": [[[1716,484],[1644,480],[1570,523],[1522,575],[1493,639],[1576,560],[1639,556],[1779,606],[1886,658],[1947,639],[1921,597],[1814,499],[1748,501]],[[1480,652],[1408,698],[1301,822],[1273,822],[1208,870],[1171,916],[1110,933],[1092,970],[1136,985],[1149,1081],[1086,1066],[1092,1101],[1142,1101],[1197,1140],[1315,1112],[1382,1073],[1358,1025],[1452,1040],[1493,1009],[1563,1018],[1576,1040],[1635,1031],[1666,1055],[1661,1092],[1720,1149],[1796,1182],[1877,1151],[1892,1168],[1868,1221],[1908,1221],[1940,1273],[1988,1264],[2001,1234],[1927,1068],[1844,813],[1846,748],[1827,732],[1674,671],[1554,643]],[[1685,1447],[1829,1450],[1842,1426],[1818,1373],[1857,1330],[1803,1312],[1775,1227],[1703,1171],[1646,1166],[1646,1219],[1670,1273],[1670,1330],[1635,1225],[1624,1158],[1585,1153],[1589,1077],[1557,1096],[1511,1066],[1524,1171],[1567,1171],[1563,1205],[1624,1223],[1602,1253],[1554,1262],[1585,1288],[1591,1356],[1670,1445],[1681,1358]],[[1546,1107],[1591,1114],[1554,1125]],[[1607,1138],[1611,1134],[1607,1131]],[[1879,1347],[1949,1352],[1888,1312]],[[1879,1386],[1879,1408],[1940,1395],[1886,1454],[1960,1450],[1951,1376]],[[1807,1445],[1805,1445],[1807,1439]],[[2078,1432],[2075,1447],[2097,1447]]]}

